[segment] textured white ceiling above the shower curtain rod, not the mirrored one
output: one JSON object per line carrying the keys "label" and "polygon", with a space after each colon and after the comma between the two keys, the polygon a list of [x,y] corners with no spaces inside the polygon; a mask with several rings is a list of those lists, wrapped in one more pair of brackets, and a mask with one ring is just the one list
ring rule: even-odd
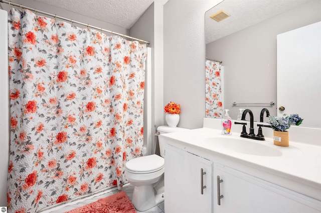
{"label": "textured white ceiling above the shower curtain rod, not the mirrored one", "polygon": [[36,0],[129,29],[153,1],[168,0]]}

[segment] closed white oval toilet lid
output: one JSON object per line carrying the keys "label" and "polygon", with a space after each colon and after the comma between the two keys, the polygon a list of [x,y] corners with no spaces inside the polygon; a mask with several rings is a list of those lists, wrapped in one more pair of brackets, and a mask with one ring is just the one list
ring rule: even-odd
{"label": "closed white oval toilet lid", "polygon": [[133,173],[149,173],[164,167],[164,158],[157,154],[137,157],[126,162],[126,169]]}

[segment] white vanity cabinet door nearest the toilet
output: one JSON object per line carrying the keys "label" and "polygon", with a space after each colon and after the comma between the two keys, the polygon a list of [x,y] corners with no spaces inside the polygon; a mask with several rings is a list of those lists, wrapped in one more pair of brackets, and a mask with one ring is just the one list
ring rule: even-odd
{"label": "white vanity cabinet door nearest the toilet", "polygon": [[[201,175],[201,169],[206,174]],[[165,212],[212,212],[213,162],[167,144]],[[206,188],[201,193],[201,182]]]}

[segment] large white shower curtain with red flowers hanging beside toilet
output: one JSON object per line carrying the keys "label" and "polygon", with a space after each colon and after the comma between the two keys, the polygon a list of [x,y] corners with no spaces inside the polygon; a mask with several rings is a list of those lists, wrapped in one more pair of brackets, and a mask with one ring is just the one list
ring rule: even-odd
{"label": "large white shower curtain with red flowers hanging beside toilet", "polygon": [[12,8],[10,212],[121,187],[142,155],[146,45]]}

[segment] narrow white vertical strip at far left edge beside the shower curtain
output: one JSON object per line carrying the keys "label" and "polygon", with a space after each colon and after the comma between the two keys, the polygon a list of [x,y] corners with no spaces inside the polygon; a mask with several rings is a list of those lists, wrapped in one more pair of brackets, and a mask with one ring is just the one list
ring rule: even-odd
{"label": "narrow white vertical strip at far left edge beside the shower curtain", "polygon": [[8,13],[0,9],[0,206],[7,206],[9,162]]}

